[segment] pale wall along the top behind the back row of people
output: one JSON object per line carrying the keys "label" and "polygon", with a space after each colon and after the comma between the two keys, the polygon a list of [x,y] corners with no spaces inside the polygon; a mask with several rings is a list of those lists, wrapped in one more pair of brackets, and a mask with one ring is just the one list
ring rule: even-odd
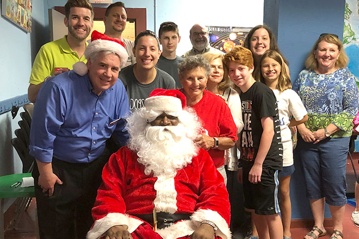
{"label": "pale wall along the top behind the back row of people", "polygon": [[[113,0],[116,2],[118,0]],[[67,0],[45,1],[45,17],[48,8],[64,6]],[[218,26],[252,27],[263,23],[264,0],[156,0],[156,17],[154,17],[155,0],[122,0],[126,7],[147,9],[147,29],[158,34],[159,25],[171,21],[179,26],[181,42],[177,53],[181,55],[192,48],[189,41],[189,29],[199,23]],[[94,4],[106,7],[106,4]],[[47,20],[46,20],[47,21]],[[156,22],[156,24],[154,24]]]}

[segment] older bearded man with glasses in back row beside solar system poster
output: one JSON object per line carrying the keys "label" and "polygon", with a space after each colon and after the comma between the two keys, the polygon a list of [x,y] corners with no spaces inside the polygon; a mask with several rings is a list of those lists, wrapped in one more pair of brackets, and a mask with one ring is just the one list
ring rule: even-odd
{"label": "older bearded man with glasses in back row beside solar system poster", "polygon": [[208,29],[200,24],[194,24],[189,30],[189,39],[191,40],[193,48],[182,55],[182,57],[203,54],[205,52],[221,53],[224,52],[212,48],[208,41]]}

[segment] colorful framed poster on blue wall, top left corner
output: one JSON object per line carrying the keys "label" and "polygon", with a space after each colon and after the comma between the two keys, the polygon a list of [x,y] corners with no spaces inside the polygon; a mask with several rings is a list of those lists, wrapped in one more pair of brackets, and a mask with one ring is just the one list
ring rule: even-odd
{"label": "colorful framed poster on blue wall, top left corner", "polygon": [[31,32],[32,0],[2,0],[1,16],[20,27]]}

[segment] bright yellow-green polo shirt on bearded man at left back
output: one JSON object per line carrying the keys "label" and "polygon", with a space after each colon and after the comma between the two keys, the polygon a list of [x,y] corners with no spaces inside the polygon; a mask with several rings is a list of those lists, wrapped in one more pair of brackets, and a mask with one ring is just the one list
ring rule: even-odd
{"label": "bright yellow-green polo shirt on bearded man at left back", "polygon": [[[88,43],[86,42],[86,47]],[[38,85],[44,79],[53,75],[55,68],[69,68],[78,61],[86,63],[85,55],[78,57],[77,52],[73,51],[66,41],[66,35],[53,42],[42,46],[36,55],[34,64],[31,69],[29,83]]]}

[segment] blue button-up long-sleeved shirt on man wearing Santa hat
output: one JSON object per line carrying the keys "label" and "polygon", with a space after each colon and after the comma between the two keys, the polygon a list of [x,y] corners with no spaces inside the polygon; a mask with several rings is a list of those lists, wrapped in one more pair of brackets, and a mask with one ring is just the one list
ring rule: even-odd
{"label": "blue button-up long-sleeved shirt on man wearing Santa hat", "polygon": [[[70,163],[89,163],[104,150],[114,133],[126,144],[125,115],[128,96],[118,80],[114,86],[94,93],[88,75],[64,72],[46,81],[34,107],[30,132],[30,154],[41,162],[52,157]],[[112,126],[109,123],[121,119]]]}

